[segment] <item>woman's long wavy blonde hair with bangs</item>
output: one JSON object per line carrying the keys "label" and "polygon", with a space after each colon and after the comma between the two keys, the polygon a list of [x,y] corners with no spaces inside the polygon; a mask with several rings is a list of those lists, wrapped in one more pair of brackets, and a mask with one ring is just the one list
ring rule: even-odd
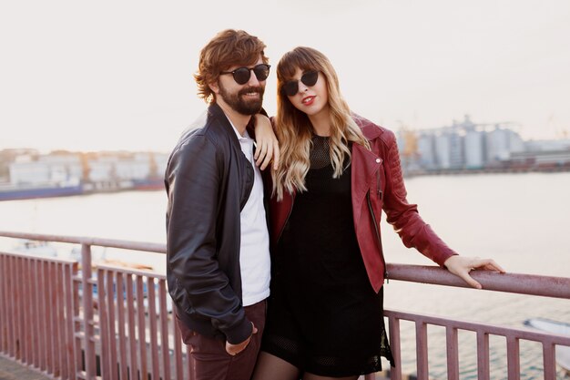
{"label": "woman's long wavy blonde hair with bangs", "polygon": [[329,59],[311,47],[299,46],[281,57],[277,65],[277,115],[275,131],[280,141],[281,164],[273,171],[273,194],[283,199],[283,191],[307,190],[305,176],[310,169],[312,125],[304,112],[295,108],[283,90],[283,85],[294,77],[297,68],[320,71],[326,79],[331,118],[330,156],[333,178],[339,178],[345,169],[345,158],[351,160],[349,141],[370,149],[361,128],[351,118],[351,109],[341,96],[339,79]]}

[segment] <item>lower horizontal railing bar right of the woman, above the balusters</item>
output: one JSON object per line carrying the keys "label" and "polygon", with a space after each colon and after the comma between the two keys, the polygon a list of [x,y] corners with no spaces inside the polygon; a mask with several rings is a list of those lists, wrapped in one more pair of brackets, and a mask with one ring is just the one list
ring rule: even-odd
{"label": "lower horizontal railing bar right of the woman, above the balusters", "polygon": [[459,330],[471,331],[473,333],[493,334],[500,336],[513,336],[515,338],[534,341],[545,344],[570,345],[570,336],[556,335],[531,330],[522,330],[514,327],[496,326],[493,324],[481,324],[467,322],[459,319],[448,319],[434,315],[406,313],[398,310],[384,310],[386,317],[393,317],[399,320],[411,321],[421,324],[433,324],[437,326],[456,328]]}

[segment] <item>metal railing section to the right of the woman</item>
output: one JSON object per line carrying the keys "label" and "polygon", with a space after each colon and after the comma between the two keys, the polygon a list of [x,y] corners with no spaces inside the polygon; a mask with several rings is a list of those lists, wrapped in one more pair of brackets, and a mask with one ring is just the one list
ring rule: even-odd
{"label": "metal railing section to the right of the woman", "polygon": [[[421,267],[417,265],[388,264],[388,271],[392,280],[406,282],[422,282],[454,287],[469,286],[451,274],[436,267]],[[570,300],[570,278],[549,277],[531,274],[495,272],[471,272],[473,278],[483,284],[487,291],[502,293],[519,293],[526,295],[538,295]],[[570,306],[570,304],[569,304]],[[534,341],[543,345],[543,368],[545,380],[555,380],[555,345],[570,345],[570,336],[562,336],[548,333],[532,332],[524,329],[495,326],[491,324],[479,324],[467,321],[459,321],[436,316],[404,313],[387,310],[385,316],[389,321],[392,353],[397,364],[402,363],[400,347],[400,322],[411,321],[415,325],[416,333],[416,368],[418,379],[428,379],[428,339],[427,329],[429,325],[443,326],[446,335],[447,354],[447,378],[459,380],[459,344],[458,334],[462,331],[476,334],[477,344],[477,379],[489,380],[489,338],[501,336],[506,340],[507,374],[509,380],[518,380],[520,374],[520,341]],[[402,369],[399,365],[391,371],[391,378],[402,379]]]}

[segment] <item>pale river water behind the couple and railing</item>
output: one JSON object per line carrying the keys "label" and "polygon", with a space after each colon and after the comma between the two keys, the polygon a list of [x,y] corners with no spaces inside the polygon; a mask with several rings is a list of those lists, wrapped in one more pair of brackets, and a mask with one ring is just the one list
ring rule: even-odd
{"label": "pale river water behind the couple and railing", "polygon": [[[491,257],[507,272],[568,276],[570,270],[570,173],[425,176],[406,180],[408,199],[455,251]],[[163,191],[92,194],[0,202],[0,231],[164,242]],[[402,245],[382,221],[387,262],[433,262]],[[6,244],[6,241],[2,241]],[[121,253],[125,261],[164,272],[164,256]],[[570,322],[570,301],[391,281],[387,309],[522,327],[531,317]],[[402,323],[402,367],[415,372],[414,328]],[[446,378],[445,334],[428,331],[430,376]],[[474,334],[460,334],[462,379],[476,379]],[[472,348],[473,347],[473,348]],[[542,348],[521,345],[522,379],[542,379]],[[506,379],[506,343],[491,339],[491,378]],[[565,378],[560,372],[560,379]],[[568,377],[566,377],[568,378]]]}

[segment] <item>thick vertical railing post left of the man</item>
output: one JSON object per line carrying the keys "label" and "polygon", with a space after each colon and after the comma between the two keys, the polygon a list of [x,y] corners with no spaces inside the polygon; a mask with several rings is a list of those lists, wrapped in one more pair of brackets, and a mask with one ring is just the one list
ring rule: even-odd
{"label": "thick vertical railing post left of the man", "polygon": [[91,282],[91,246],[81,244],[81,283],[83,288],[83,328],[87,380],[97,375],[95,354],[95,321],[93,320],[93,282]]}

